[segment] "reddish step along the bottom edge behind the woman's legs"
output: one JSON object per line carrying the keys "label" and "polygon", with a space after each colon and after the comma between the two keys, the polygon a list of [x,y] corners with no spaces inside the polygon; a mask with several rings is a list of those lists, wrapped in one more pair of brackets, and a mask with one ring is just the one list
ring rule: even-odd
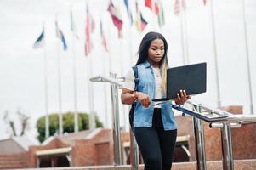
{"label": "reddish step along the bottom edge behind the woman's legs", "polygon": [[[256,170],[256,159],[253,160],[236,160],[234,161],[235,170]],[[37,168],[30,169],[36,170]],[[92,167],[52,167],[40,168],[43,169],[56,169],[56,170],[131,170],[131,166],[92,166]],[[221,170],[222,161],[208,161],[207,170]],[[38,170],[38,169],[37,169]],[[139,170],[143,170],[143,165],[139,166]],[[181,162],[174,163],[172,170],[196,170],[196,162]]]}

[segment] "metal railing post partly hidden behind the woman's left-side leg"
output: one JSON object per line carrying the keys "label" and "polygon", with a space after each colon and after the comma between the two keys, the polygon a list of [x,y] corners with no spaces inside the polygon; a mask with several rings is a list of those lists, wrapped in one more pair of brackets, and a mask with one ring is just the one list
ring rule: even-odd
{"label": "metal railing post partly hidden behind the woman's left-side leg", "polygon": [[139,170],[139,147],[134,138],[134,133],[130,127],[130,161],[132,170]]}

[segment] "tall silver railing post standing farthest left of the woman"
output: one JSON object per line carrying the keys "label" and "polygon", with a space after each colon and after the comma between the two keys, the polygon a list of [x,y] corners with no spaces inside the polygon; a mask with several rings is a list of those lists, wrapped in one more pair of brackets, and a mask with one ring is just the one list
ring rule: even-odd
{"label": "tall silver railing post standing farthest left of the woman", "polygon": [[[110,77],[117,79],[117,74],[110,73]],[[111,83],[111,105],[112,105],[112,133],[114,143],[114,165],[122,165],[121,140],[120,140],[120,118],[118,108],[118,86]]]}

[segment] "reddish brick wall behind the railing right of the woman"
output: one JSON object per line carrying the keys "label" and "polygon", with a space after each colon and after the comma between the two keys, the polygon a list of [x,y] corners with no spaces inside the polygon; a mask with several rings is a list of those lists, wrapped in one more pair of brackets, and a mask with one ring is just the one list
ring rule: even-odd
{"label": "reddish brick wall behind the railing right of the woman", "polygon": [[[234,114],[242,113],[242,106],[224,106],[220,109]],[[189,134],[190,161],[196,160],[195,136],[191,116],[176,116],[178,135]],[[231,129],[232,150],[234,159],[256,158],[256,123],[244,124],[240,128]],[[219,128],[210,128],[208,122],[204,122],[205,153],[207,160],[216,161],[222,159],[221,136]]]}

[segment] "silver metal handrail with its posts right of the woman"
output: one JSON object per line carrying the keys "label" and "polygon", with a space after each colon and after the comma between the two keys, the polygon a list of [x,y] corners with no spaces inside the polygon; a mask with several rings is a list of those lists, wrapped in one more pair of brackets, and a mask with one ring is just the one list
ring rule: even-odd
{"label": "silver metal handrail with its posts right of the woman", "polygon": [[[189,108],[183,108],[178,105],[173,105],[173,108],[182,111],[185,114],[193,116],[195,138],[196,135],[199,136],[203,134],[203,131],[200,132],[198,129],[203,129],[202,123],[196,121],[196,119],[203,120],[210,123],[210,127],[220,128],[221,129],[221,143],[222,143],[222,162],[224,170],[234,170],[234,160],[232,154],[232,142],[231,142],[231,127],[241,127],[245,123],[255,123],[256,116],[252,115],[234,115],[228,111],[222,111],[220,109],[212,108],[207,105],[195,104],[191,101],[187,101],[187,104],[192,105],[193,110],[201,107],[202,111],[191,111]],[[195,119],[196,118],[196,119]],[[196,155],[200,154],[200,151],[204,150],[204,139],[200,138],[201,144],[196,144]],[[203,153],[203,152],[202,152]],[[200,162],[200,166],[197,167],[197,170],[206,169],[204,167],[205,157],[201,154],[201,157],[196,157],[196,162]]]}

